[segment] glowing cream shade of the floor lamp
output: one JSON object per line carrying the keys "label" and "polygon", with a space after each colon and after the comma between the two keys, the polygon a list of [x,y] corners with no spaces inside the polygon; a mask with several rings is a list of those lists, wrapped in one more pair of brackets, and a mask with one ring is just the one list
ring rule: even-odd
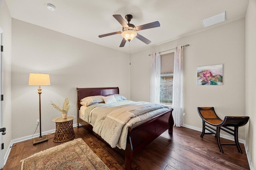
{"label": "glowing cream shade of the floor lamp", "polygon": [[50,75],[41,73],[30,73],[28,85],[32,86],[45,86],[50,85]]}

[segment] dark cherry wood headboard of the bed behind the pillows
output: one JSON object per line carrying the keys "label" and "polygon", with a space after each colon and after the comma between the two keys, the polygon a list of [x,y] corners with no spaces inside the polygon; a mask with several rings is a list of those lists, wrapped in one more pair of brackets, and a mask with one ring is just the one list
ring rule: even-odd
{"label": "dark cherry wood headboard of the bed behind the pillows", "polygon": [[107,88],[76,88],[77,92],[77,110],[82,106],[80,100],[88,96],[108,96],[110,94],[119,94],[118,87]]}

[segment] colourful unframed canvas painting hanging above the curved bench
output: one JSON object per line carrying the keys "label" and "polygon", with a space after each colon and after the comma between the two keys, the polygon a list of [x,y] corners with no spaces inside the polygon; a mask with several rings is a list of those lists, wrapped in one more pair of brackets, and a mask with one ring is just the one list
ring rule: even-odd
{"label": "colourful unframed canvas painting hanging above the curved bench", "polygon": [[198,85],[223,85],[223,64],[197,67]]}

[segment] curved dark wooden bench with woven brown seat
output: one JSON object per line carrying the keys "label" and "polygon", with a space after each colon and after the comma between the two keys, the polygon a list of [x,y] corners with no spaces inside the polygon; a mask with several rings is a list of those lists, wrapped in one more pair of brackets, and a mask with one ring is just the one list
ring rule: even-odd
{"label": "curved dark wooden bench with woven brown seat", "polygon": [[[203,129],[200,137],[204,137],[204,135],[214,134],[217,138],[220,152],[224,153],[222,146],[236,146],[238,152],[242,153],[242,149],[240,148],[238,142],[238,127],[244,126],[249,121],[248,116],[225,116],[224,120],[222,120],[214,111],[214,107],[197,107],[197,110],[203,121]],[[234,129],[231,129],[230,127],[234,127]],[[209,132],[206,133],[205,130],[208,130]],[[220,130],[223,130],[230,135],[233,135],[235,143],[220,143]]]}

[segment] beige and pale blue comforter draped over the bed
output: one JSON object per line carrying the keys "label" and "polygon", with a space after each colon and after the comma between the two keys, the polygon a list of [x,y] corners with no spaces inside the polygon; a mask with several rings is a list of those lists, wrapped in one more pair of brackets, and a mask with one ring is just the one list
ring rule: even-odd
{"label": "beige and pale blue comforter draped over the bed", "polygon": [[130,100],[114,104],[95,104],[88,106],[83,113],[85,121],[93,126],[112,148],[126,148],[128,127],[168,111],[167,106]]}

